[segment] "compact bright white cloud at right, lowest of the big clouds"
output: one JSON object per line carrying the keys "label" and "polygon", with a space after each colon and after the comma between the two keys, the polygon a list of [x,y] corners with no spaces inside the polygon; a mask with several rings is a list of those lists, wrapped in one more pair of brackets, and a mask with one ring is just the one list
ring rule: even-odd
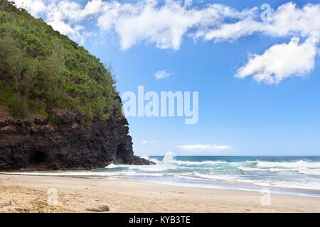
{"label": "compact bright white cloud at right, lowest of the big clouds", "polygon": [[262,55],[253,55],[240,67],[235,77],[252,76],[257,82],[278,84],[287,77],[302,77],[314,68],[316,45],[307,39],[299,43],[292,38],[289,43],[273,45]]}

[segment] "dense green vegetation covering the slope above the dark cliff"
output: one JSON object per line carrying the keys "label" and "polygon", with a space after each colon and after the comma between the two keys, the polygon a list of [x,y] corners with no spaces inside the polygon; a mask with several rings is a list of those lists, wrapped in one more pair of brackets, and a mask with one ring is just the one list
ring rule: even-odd
{"label": "dense green vegetation covering the slope above the dark cliff", "polygon": [[[122,118],[110,67],[7,0],[0,1],[0,104],[11,115],[79,109]],[[48,116],[53,123],[55,118]]]}

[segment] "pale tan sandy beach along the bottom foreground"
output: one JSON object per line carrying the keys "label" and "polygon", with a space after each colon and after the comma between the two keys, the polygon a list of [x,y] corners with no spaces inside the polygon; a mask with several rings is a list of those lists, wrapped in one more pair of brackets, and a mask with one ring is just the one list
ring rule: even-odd
{"label": "pale tan sandy beach along the bottom foreground", "polygon": [[[48,205],[48,189],[57,205]],[[51,198],[49,197],[49,198]],[[320,198],[75,177],[0,175],[0,212],[320,212]],[[53,201],[53,200],[50,200]]]}

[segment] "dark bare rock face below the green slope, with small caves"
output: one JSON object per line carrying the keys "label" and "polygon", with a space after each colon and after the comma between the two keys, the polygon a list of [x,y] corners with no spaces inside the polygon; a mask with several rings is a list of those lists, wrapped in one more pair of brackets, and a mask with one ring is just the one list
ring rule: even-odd
{"label": "dark bare rock face below the green slope, with small caves", "polygon": [[86,170],[103,168],[110,163],[151,165],[134,156],[127,120],[94,118],[84,123],[80,112],[48,119],[0,122],[0,171]]}

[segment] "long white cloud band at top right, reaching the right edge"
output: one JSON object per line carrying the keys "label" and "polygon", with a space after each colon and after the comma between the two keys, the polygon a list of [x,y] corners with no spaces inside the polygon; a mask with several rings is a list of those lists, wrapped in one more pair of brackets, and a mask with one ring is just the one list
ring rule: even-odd
{"label": "long white cloud band at top right, reaching the right edge", "polygon": [[320,31],[320,4],[306,4],[302,9],[289,2],[272,11],[267,22],[260,20],[259,11],[251,13],[234,23],[219,23],[215,28],[199,29],[195,37],[205,40],[232,41],[253,33],[264,33],[272,36],[302,35]]}

